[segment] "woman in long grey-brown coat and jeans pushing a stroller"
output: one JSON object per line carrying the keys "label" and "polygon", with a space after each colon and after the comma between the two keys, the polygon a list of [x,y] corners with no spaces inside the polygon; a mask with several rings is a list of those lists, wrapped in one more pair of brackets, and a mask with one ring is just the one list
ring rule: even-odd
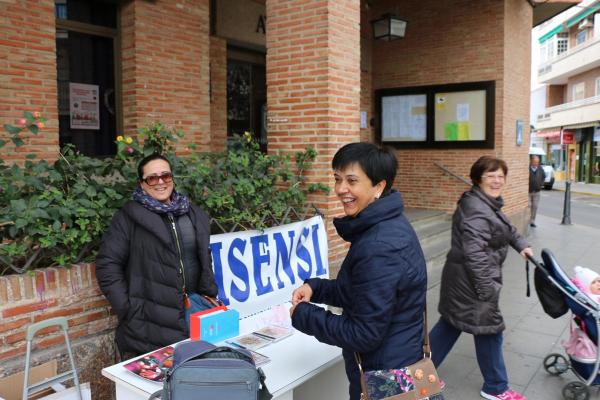
{"label": "woman in long grey-brown coat and jeans pushing a stroller", "polygon": [[429,334],[436,367],[462,332],[473,335],[484,380],[480,395],[490,400],[525,399],[508,388],[498,300],[508,246],[523,257],[533,251],[500,211],[507,173],[506,162],[489,156],[471,167],[473,186],[458,201],[452,218],[452,247],[442,272],[438,307],[441,318]]}

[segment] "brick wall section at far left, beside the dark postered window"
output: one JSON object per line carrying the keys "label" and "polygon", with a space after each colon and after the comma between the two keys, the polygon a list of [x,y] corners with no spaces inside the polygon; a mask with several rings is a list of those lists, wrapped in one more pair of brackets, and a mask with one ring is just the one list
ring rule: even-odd
{"label": "brick wall section at far left, beside the dark postered window", "polygon": [[[5,161],[23,160],[28,153],[38,159],[58,154],[55,31],[52,0],[0,2],[0,127],[16,124],[23,111],[48,118],[37,136],[24,136],[25,146],[16,151],[12,144],[3,147]],[[7,138],[0,128],[0,139]]]}

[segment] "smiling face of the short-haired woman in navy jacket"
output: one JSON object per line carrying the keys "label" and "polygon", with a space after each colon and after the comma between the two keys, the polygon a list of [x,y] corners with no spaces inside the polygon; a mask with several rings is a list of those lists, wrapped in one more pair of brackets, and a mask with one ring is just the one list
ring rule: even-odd
{"label": "smiling face of the short-haired woman in navy jacket", "polygon": [[385,181],[373,185],[358,163],[348,164],[344,169],[335,170],[333,176],[335,194],[342,202],[344,213],[351,217],[356,217],[378,199],[385,188]]}

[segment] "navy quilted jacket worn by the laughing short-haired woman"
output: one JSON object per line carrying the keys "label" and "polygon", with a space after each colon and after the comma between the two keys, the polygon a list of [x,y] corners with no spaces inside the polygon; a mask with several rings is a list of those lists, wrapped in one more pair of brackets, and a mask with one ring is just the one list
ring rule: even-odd
{"label": "navy quilted jacket worn by the laughing short-haired woman", "polygon": [[293,326],[343,349],[350,399],[360,398],[354,352],[365,370],[401,368],[423,357],[427,270],[417,236],[402,214],[400,193],[371,203],[356,217],[334,220],[351,243],[336,279],[309,279],[313,303],[298,304]]}

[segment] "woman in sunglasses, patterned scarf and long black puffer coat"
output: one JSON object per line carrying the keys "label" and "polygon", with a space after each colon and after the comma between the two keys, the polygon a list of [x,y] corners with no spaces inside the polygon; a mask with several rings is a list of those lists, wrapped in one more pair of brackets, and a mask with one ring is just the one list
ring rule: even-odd
{"label": "woman in sunglasses, patterned scarf and long black puffer coat", "polygon": [[144,158],[138,176],[134,199],[114,216],[96,257],[98,284],[119,318],[116,341],[127,357],[186,339],[187,296],[217,296],[208,215],[174,190],[166,158]]}

